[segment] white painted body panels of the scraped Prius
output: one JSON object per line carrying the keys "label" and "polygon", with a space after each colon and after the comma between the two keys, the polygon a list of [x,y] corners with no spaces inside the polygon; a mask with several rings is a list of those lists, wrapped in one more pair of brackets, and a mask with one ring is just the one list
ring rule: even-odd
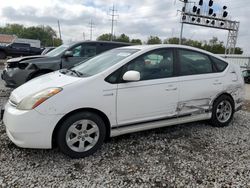
{"label": "white painted body panels of the scraped Prius", "polygon": [[[244,85],[240,69],[229,63],[221,73],[176,76],[139,82],[110,84],[105,78],[132,59],[159,48],[184,48],[214,54],[192,47],[179,45],[131,46],[120,49],[139,51],[119,63],[90,77],[74,77],[53,72],[15,89],[5,106],[4,124],[9,138],[25,148],[51,148],[52,134],[57,123],[68,113],[77,109],[96,109],[104,113],[109,122],[111,136],[128,132],[209,119],[211,112],[201,114],[200,110],[211,110],[213,100],[223,92],[231,94],[235,108],[242,105]],[[221,59],[218,56],[215,56]],[[223,60],[223,59],[221,59]],[[224,60],[223,60],[224,61]],[[18,110],[15,104],[25,97],[43,89],[60,87],[63,90],[49,98],[33,110]],[[191,106],[191,108],[190,108]],[[178,116],[186,113],[199,113],[189,119]],[[177,117],[161,123],[147,123],[145,127],[120,126],[144,121]],[[113,129],[114,127],[118,127]]]}

